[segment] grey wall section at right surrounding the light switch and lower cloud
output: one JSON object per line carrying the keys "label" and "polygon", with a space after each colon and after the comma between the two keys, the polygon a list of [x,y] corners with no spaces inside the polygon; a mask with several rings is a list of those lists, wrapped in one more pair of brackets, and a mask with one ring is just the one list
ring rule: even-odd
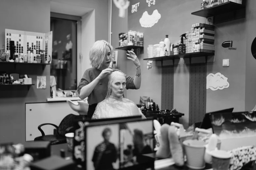
{"label": "grey wall section at right surrounding the light switch and lower cloud", "polygon": [[[227,40],[232,40],[233,47],[237,50],[222,48],[221,44]],[[245,19],[216,24],[214,44],[215,62],[207,64],[207,75],[220,72],[228,78],[230,86],[223,90],[207,90],[206,112],[230,107],[234,107],[234,111],[244,111],[247,52]],[[223,59],[230,59],[229,67],[222,66]]]}

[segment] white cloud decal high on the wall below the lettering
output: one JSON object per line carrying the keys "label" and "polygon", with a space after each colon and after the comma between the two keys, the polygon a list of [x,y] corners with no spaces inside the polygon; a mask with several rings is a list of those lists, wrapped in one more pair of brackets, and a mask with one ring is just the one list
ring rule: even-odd
{"label": "white cloud decal high on the wall below the lettering", "polygon": [[148,28],[154,26],[158,20],[161,18],[161,14],[155,9],[152,15],[149,15],[147,11],[142,14],[140,18],[140,24],[142,27]]}

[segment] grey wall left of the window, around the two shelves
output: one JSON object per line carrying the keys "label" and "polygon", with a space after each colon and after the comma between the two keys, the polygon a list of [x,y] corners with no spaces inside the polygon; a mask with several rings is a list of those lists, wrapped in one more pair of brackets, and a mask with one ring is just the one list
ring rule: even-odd
{"label": "grey wall left of the window, around the two shelves", "polygon": [[[5,41],[5,29],[47,33],[50,31],[50,0],[3,0],[0,10],[0,47]],[[50,66],[0,64],[0,71],[27,74],[36,84],[37,76],[46,76],[46,89],[31,86],[0,90],[0,142],[25,142],[25,103],[45,102],[50,97]]]}

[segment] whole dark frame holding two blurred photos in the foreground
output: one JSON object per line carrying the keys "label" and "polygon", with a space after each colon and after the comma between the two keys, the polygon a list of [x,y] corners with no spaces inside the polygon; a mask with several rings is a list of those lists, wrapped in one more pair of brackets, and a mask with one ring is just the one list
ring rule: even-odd
{"label": "whole dark frame holding two blurred photos in the foreground", "polygon": [[[153,118],[75,120],[73,160],[91,170],[154,169]],[[122,162],[120,162],[122,160]]]}

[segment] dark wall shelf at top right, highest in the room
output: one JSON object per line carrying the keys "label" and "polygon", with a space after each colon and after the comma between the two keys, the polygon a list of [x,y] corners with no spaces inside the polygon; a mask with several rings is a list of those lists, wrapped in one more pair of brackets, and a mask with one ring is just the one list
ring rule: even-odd
{"label": "dark wall shelf at top right, highest in the room", "polygon": [[245,3],[245,0],[242,4],[229,1],[213,7],[192,12],[191,14],[204,18],[214,17],[213,24],[238,20],[245,18]]}

